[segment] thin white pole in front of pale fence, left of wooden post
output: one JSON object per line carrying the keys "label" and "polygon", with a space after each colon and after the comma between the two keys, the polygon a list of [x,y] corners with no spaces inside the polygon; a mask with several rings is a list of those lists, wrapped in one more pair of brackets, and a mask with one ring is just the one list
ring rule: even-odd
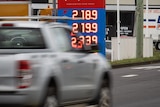
{"label": "thin white pole in front of pale fence, left of wooden post", "polygon": [[119,0],[117,0],[117,48],[118,48],[118,60],[120,60],[120,10]]}

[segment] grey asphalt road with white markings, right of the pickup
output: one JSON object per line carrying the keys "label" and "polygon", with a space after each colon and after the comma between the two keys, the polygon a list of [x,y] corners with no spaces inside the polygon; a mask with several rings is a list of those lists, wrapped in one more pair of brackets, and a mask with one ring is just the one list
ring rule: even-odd
{"label": "grey asphalt road with white markings, right of the pickup", "polygon": [[111,72],[113,107],[160,107],[160,63]]}

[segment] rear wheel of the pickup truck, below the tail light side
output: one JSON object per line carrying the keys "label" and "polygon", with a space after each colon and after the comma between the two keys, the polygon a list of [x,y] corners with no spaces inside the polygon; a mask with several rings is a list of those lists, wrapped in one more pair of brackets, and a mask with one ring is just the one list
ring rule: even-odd
{"label": "rear wheel of the pickup truck, below the tail light side", "polygon": [[58,107],[58,100],[53,86],[49,86],[47,89],[47,95],[43,107]]}

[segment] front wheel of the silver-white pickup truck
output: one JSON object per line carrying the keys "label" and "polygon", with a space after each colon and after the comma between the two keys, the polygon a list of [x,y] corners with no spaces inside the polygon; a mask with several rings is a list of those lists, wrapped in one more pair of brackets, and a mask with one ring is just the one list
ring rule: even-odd
{"label": "front wheel of the silver-white pickup truck", "polygon": [[111,107],[111,93],[105,80],[100,89],[98,107]]}

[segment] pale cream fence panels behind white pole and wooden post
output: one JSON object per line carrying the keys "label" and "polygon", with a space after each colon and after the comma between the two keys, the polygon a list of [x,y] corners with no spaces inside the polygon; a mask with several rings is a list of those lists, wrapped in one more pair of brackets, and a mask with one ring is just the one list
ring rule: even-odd
{"label": "pale cream fence panels behind white pole and wooden post", "polygon": [[[118,60],[117,37],[112,37],[111,61]],[[153,56],[152,38],[144,38],[143,57]],[[136,37],[120,38],[120,60],[136,58]]]}

